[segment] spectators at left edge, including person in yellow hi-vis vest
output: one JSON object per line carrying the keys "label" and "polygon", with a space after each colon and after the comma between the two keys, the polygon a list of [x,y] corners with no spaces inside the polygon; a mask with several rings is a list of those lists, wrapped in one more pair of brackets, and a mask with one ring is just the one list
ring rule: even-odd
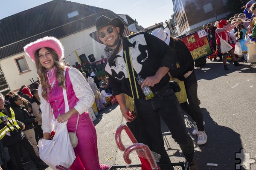
{"label": "spectators at left edge, including person in yellow hi-vis vest", "polygon": [[[3,96],[0,94],[0,116],[7,116],[0,120],[0,129],[5,131],[0,135],[0,149],[2,160],[0,167],[5,170],[23,170],[24,164],[34,161],[37,168],[48,167],[39,157],[38,140],[42,138],[42,130],[38,128],[38,121],[41,120],[40,102],[35,97],[37,90],[32,91],[23,85],[16,94],[10,91]],[[34,106],[34,102],[38,107]],[[9,122],[9,124],[7,123]],[[41,122],[40,122],[41,123]],[[6,128],[10,130],[7,130]],[[6,129],[6,130],[5,130]],[[8,150],[12,153],[11,159]],[[28,153],[28,156],[24,152]],[[12,161],[15,161],[12,162]],[[5,164],[4,164],[5,163]]]}

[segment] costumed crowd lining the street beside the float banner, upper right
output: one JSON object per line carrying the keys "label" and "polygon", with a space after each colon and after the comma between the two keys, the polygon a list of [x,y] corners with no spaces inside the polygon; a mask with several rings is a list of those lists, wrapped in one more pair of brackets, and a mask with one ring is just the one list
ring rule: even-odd
{"label": "costumed crowd lining the street beside the float banner, upper right", "polygon": [[[249,39],[256,41],[256,31],[253,32],[255,25],[255,14],[256,1],[250,0],[246,6],[243,6],[244,12],[240,14],[235,14],[234,17],[227,18],[226,20],[216,21],[215,23],[208,23],[204,25],[203,28],[207,32],[207,37],[209,39],[210,45],[212,47],[213,55],[208,58],[211,61],[224,62],[224,69],[228,70],[226,65],[226,59],[228,62],[235,62],[235,65],[239,66],[239,62],[247,62],[247,46]],[[216,31],[217,30],[217,31]],[[217,33],[216,33],[217,32]],[[253,36],[253,33],[255,36]],[[218,34],[225,40],[224,36],[227,38],[227,42],[233,46],[233,49],[227,54],[221,54],[219,51],[219,37]],[[224,35],[226,34],[226,35]],[[255,39],[254,39],[255,38]],[[218,40],[216,42],[216,40]],[[247,40],[247,41],[246,41]],[[236,42],[240,42],[241,51],[243,54],[235,54],[234,48]],[[216,46],[217,44],[217,46]],[[218,45],[219,44],[219,45]],[[239,47],[238,47],[239,48]],[[219,59],[216,59],[219,57]],[[223,59],[224,57],[224,59]]]}

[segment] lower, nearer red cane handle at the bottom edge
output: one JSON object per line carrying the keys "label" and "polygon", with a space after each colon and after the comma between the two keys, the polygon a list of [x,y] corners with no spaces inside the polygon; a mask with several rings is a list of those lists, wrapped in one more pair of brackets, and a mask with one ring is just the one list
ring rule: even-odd
{"label": "lower, nearer red cane handle at the bottom edge", "polygon": [[[129,154],[133,150],[142,150],[145,154],[145,157],[144,156],[141,156],[141,157],[148,159],[148,162],[149,162],[152,170],[158,170],[157,163],[154,159],[153,154],[151,153],[151,150],[149,149],[149,147],[147,145],[141,144],[141,143],[133,144],[125,149],[124,160],[127,164],[131,164],[131,159],[129,158]],[[140,152],[140,153],[142,153],[142,152]]]}

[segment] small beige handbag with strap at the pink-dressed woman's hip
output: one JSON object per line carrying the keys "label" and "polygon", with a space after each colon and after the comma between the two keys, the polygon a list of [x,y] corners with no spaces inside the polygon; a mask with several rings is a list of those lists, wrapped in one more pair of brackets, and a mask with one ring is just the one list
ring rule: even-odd
{"label": "small beige handbag with strap at the pink-dressed woman's hip", "polygon": [[[69,108],[68,100],[67,100],[67,92],[66,92],[66,89],[64,89],[64,88],[63,88],[63,96],[64,96],[64,102],[65,102],[65,112],[67,113],[70,110],[70,108]],[[77,129],[77,125],[78,125],[79,115],[80,114],[78,113],[77,121],[76,121],[76,129]],[[76,131],[68,132],[68,134],[70,136],[70,141],[71,141],[72,146],[76,147],[78,144],[78,138],[76,136]]]}

